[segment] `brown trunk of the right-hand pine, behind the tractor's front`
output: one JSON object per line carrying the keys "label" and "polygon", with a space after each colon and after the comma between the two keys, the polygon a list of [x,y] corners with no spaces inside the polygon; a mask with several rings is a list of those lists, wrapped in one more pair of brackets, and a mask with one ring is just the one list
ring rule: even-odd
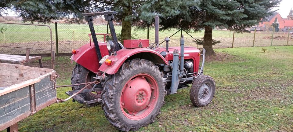
{"label": "brown trunk of the right-hand pine, behind the tractor's front", "polygon": [[215,51],[213,49],[212,41],[213,41],[213,29],[209,26],[205,26],[204,28],[204,43],[203,48],[205,49],[205,55],[211,56],[215,55]]}

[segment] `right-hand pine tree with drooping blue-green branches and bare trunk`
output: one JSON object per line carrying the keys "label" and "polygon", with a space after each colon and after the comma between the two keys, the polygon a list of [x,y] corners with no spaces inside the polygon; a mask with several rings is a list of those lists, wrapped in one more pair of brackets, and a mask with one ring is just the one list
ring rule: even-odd
{"label": "right-hand pine tree with drooping blue-green branches and bare trunk", "polygon": [[261,18],[271,15],[274,12],[271,9],[279,3],[280,0],[150,0],[142,6],[143,16],[140,18],[150,23],[154,15],[159,14],[160,25],[163,26],[161,30],[204,29],[203,47],[206,55],[214,55],[213,28],[249,32],[246,28],[257,25]]}

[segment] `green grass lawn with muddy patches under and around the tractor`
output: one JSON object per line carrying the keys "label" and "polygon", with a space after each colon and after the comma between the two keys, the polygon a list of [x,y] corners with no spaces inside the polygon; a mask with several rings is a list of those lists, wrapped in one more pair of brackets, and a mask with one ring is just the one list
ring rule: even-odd
{"label": "green grass lawn with muddy patches under and around the tractor", "polygon": [[[262,48],[268,49],[262,53]],[[139,131],[293,131],[293,46],[215,49],[204,74],[215,79],[211,104],[194,107],[190,88],[165,97],[162,113]],[[56,57],[58,85],[70,84],[70,57]],[[46,60],[46,59],[44,59]],[[47,59],[49,60],[49,59]],[[37,65],[37,64],[36,64]],[[58,88],[57,97],[67,98]],[[19,123],[20,131],[118,131],[101,106],[67,101],[53,104]]]}

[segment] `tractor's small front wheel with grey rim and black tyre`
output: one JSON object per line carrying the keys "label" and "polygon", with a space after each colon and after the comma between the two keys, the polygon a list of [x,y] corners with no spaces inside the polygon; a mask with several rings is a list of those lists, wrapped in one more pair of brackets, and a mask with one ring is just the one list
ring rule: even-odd
{"label": "tractor's small front wheel with grey rim and black tyre", "polygon": [[208,105],[215,94],[215,81],[208,75],[201,75],[192,82],[190,100],[194,106]]}

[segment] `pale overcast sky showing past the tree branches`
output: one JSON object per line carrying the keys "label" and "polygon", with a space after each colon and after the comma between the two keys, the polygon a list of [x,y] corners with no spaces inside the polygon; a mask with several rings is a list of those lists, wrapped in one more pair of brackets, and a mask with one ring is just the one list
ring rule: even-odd
{"label": "pale overcast sky showing past the tree branches", "polygon": [[[293,0],[282,0],[279,7],[274,8],[274,10],[279,9],[277,12],[280,13],[282,18],[287,18],[290,9],[293,7]],[[17,16],[14,12],[10,10],[7,11],[7,16]]]}

